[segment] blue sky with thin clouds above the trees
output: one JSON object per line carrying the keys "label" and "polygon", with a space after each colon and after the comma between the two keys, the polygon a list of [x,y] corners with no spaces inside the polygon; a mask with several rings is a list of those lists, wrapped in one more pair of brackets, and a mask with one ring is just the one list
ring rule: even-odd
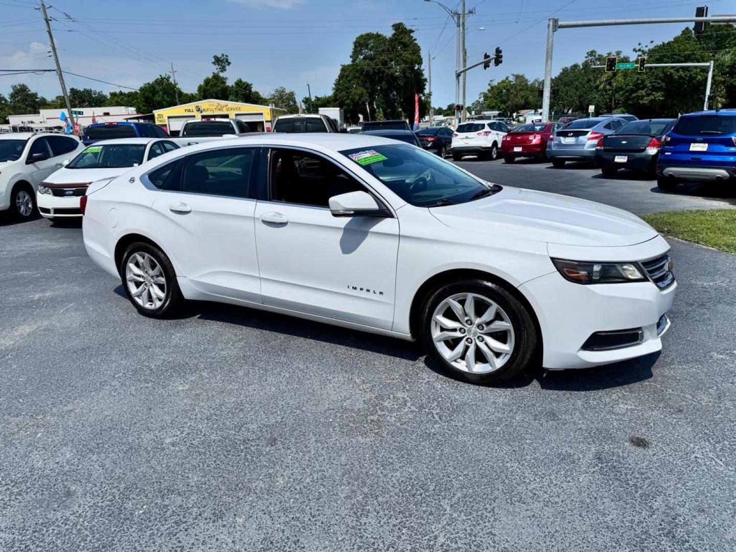
{"label": "blue sky with thin clouds above the trees", "polygon": [[[450,7],[457,0],[443,0]],[[441,7],[422,0],[55,0],[49,15],[65,71],[135,88],[174,63],[183,89],[194,91],[213,70],[212,55],[225,52],[241,77],[261,93],[286,86],[307,95],[329,93],[361,32],[390,32],[403,21],[416,29],[426,60],[431,49],[434,105],[454,101],[454,24]],[[467,103],[489,79],[512,73],[542,77],[546,21],[685,17],[704,0],[467,0],[469,63],[503,49],[503,64],[468,74]],[[733,0],[707,0],[710,14],[732,13]],[[0,0],[0,68],[52,68],[43,20],[32,0]],[[64,13],[71,16],[69,19]],[[479,27],[484,30],[478,30]],[[631,52],[639,42],[667,40],[685,24],[563,29],[556,33],[554,71],[581,60],[589,49]],[[60,93],[54,74],[0,77],[0,93],[26,82],[44,96]],[[76,88],[115,86],[67,77]]]}

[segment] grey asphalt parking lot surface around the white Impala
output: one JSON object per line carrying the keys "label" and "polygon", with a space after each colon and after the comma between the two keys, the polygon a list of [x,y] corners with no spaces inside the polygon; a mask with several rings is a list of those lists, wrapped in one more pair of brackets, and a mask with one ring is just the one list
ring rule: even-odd
{"label": "grey asphalt parking lot surface around the white Impala", "polygon": [[[636,213],[733,202],[461,164]],[[81,235],[0,222],[1,551],[736,549],[734,255],[670,242],[660,355],[493,389],[286,316],[146,319]]]}

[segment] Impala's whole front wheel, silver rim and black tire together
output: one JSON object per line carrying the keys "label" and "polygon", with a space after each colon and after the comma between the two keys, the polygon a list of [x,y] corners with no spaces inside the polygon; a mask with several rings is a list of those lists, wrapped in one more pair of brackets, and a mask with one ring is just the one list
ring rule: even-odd
{"label": "Impala's whole front wheel, silver rim and black tire together", "polygon": [[428,355],[471,383],[500,383],[529,367],[537,349],[531,314],[514,295],[485,280],[447,284],[422,309]]}

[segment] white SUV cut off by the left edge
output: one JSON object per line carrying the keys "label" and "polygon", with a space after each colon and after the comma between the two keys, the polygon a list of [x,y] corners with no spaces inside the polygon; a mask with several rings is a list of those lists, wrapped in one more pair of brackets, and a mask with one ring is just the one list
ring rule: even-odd
{"label": "white SUV cut off by the left edge", "polygon": [[0,135],[0,210],[30,219],[38,185],[82,149],[77,138],[51,132]]}

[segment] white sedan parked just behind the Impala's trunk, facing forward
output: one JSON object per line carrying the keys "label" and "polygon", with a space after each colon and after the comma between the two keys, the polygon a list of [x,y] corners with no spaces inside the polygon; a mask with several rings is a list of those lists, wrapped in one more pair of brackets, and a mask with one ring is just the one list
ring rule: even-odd
{"label": "white sedan parked just behind the Impala's trunk, facing forward", "polygon": [[79,198],[90,183],[117,177],[174,149],[179,149],[179,146],[160,138],[118,138],[87,146],[40,183],[36,194],[38,211],[51,221],[79,218],[82,216]]}

